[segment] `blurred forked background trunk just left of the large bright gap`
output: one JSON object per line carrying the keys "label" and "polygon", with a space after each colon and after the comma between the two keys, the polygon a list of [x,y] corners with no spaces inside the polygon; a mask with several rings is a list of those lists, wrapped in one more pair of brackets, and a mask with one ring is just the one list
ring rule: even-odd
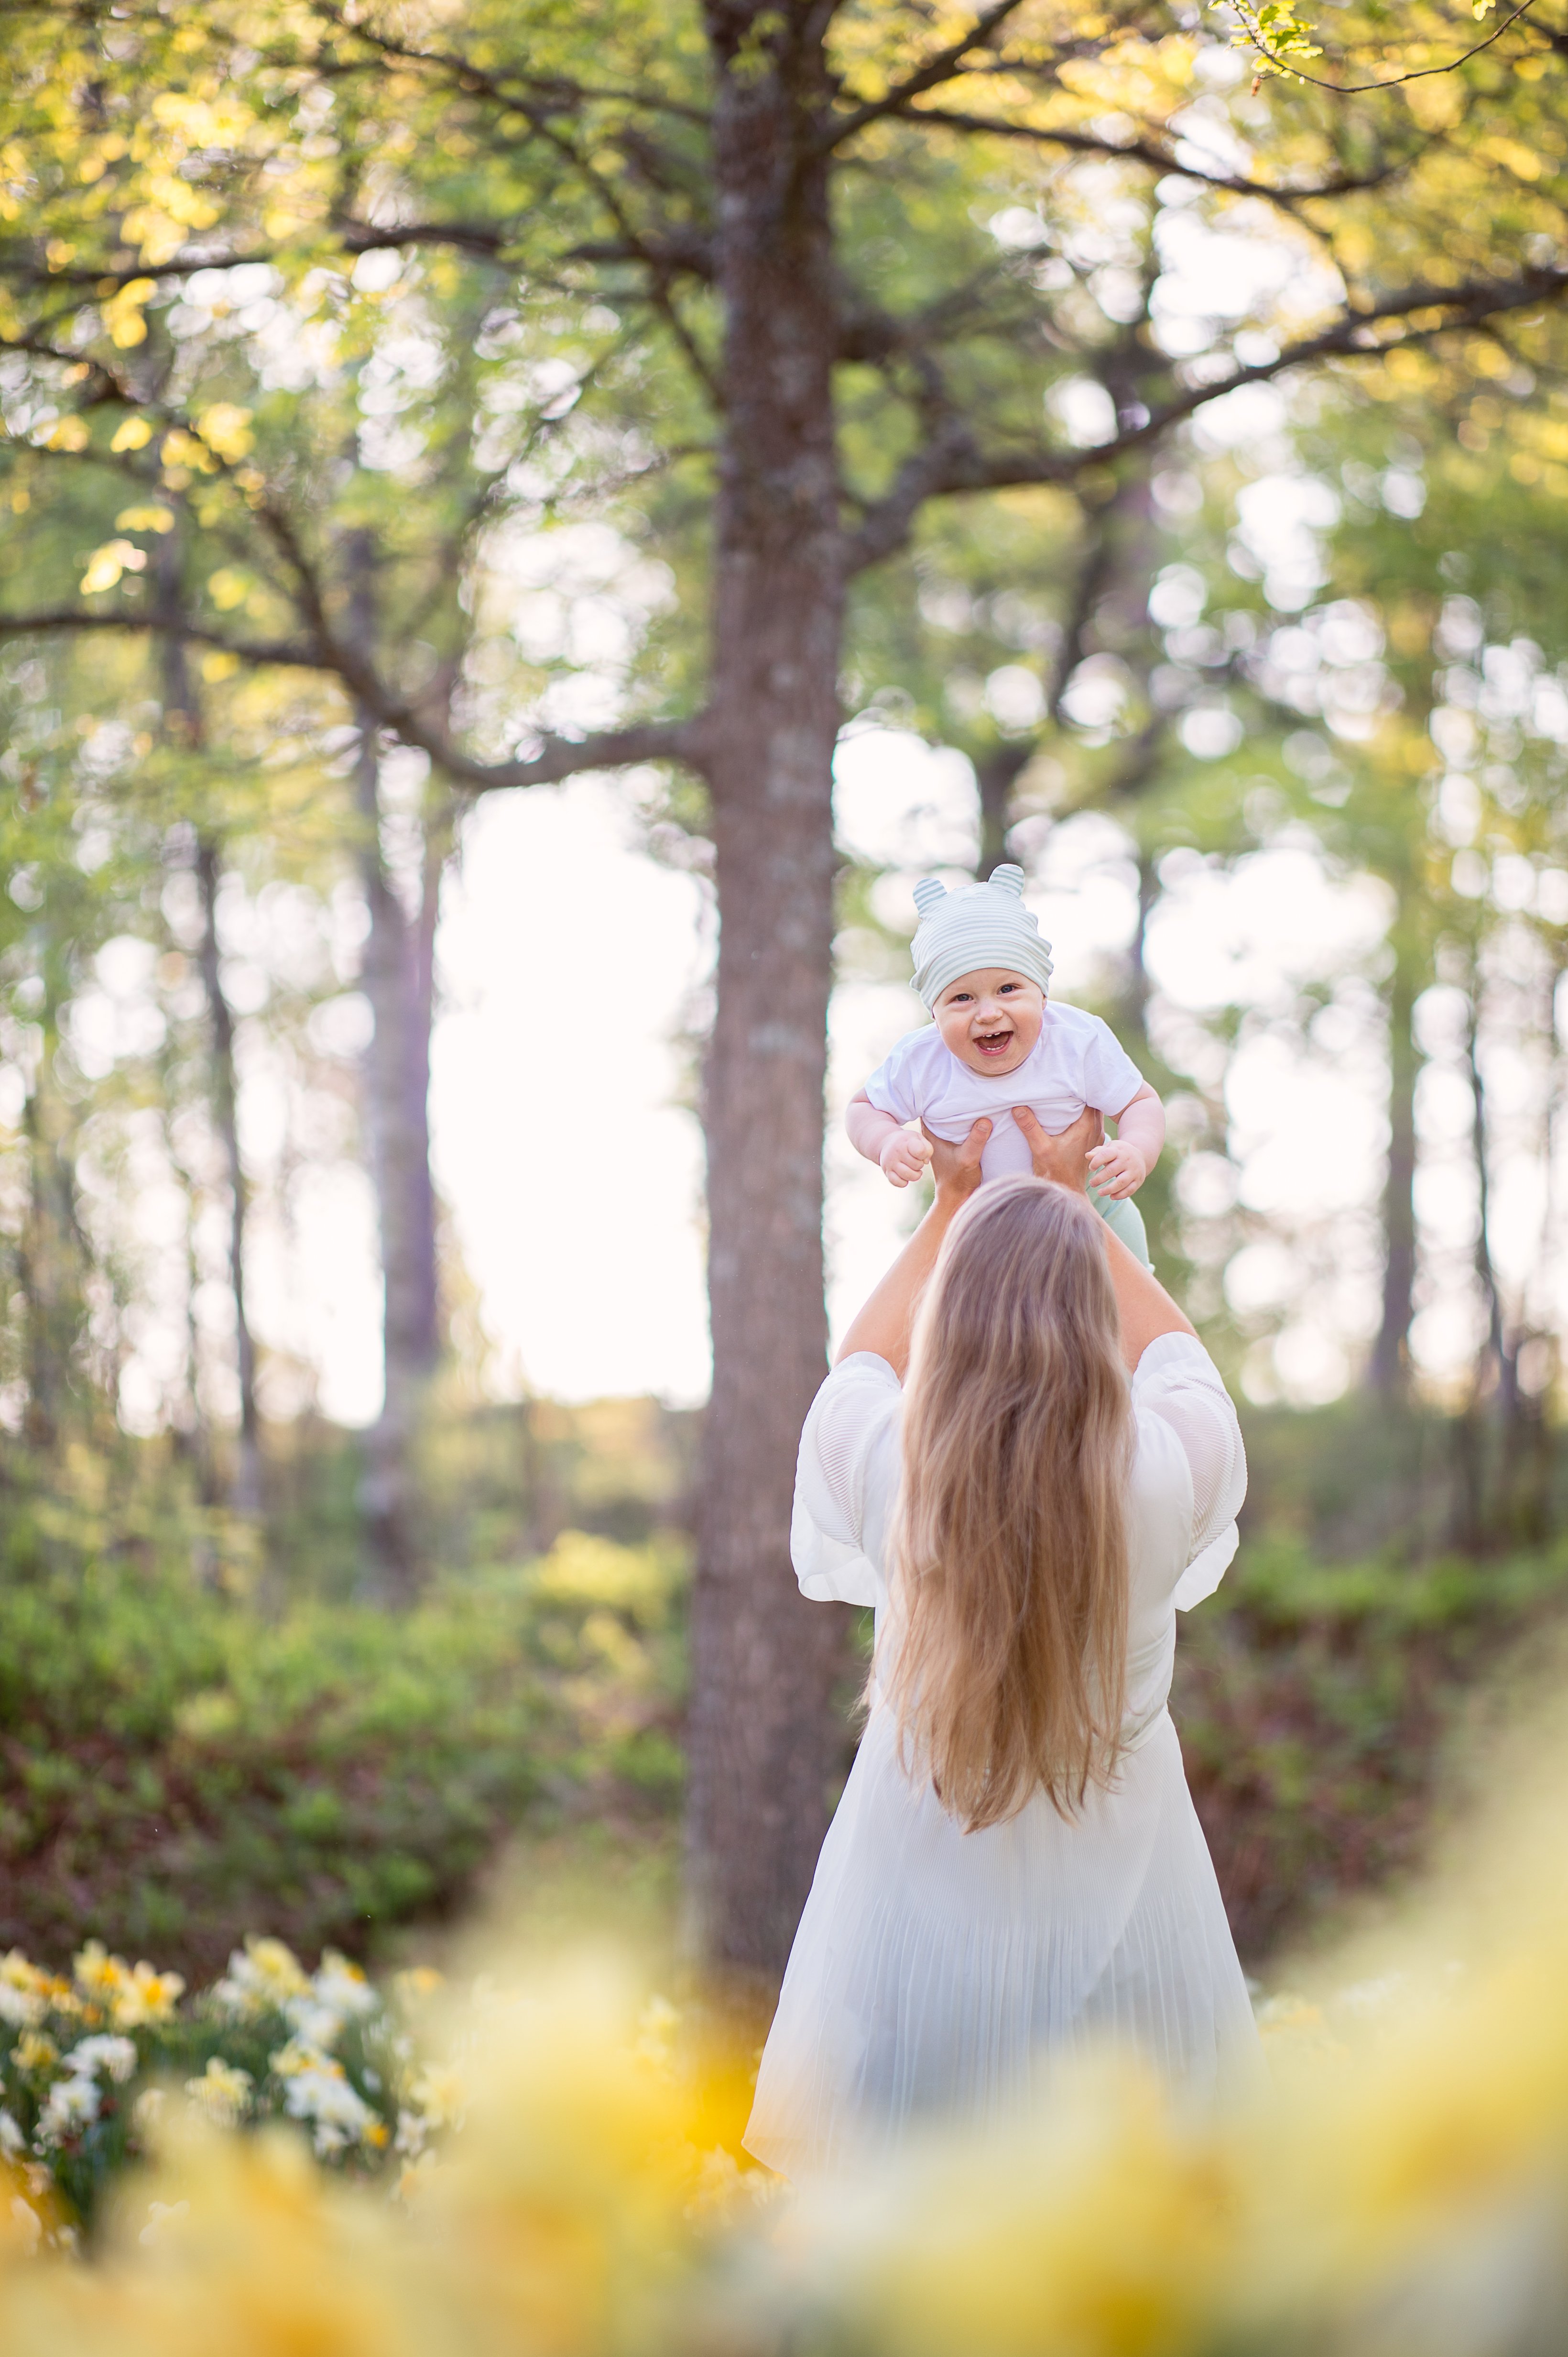
{"label": "blurred forked background trunk just left of the large bright gap", "polygon": [[372,1426],[360,1492],[367,1534],[367,1586],[405,1600],[419,1582],[410,1445],[419,1402],[440,1358],[436,1280],[436,1188],[431,1183],[431,978],[433,903],[440,870],[424,877],[421,910],[410,922],[381,860],[377,726],[360,714],[356,766],[360,808],[360,882],[370,938],[360,983],[374,1016],[365,1051],[365,1122],[381,1242],[384,1400]]}

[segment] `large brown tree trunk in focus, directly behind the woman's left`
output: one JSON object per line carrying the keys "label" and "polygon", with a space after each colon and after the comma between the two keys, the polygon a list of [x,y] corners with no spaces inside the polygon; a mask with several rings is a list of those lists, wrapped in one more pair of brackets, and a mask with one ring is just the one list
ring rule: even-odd
{"label": "large brown tree trunk in focus, directly behind the woman's left", "polygon": [[[702,1954],[732,1996],[777,1987],[843,1742],[845,1615],[805,1603],[789,1565],[796,1442],[826,1372],[822,1089],[843,629],[831,243],[810,120],[822,52],[819,31],[800,26],[808,12],[791,16],[709,5],[727,332],[704,759],[720,905],[704,1082],[713,1398],[687,1888]],[[760,54],[753,45],[730,71],[749,31]]]}

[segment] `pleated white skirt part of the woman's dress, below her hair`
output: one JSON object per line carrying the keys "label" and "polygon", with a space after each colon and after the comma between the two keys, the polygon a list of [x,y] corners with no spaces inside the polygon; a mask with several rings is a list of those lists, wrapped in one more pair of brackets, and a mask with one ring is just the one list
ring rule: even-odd
{"label": "pleated white skirt part of the woman's dress, below her hair", "polygon": [[1182,1751],[1161,1711],[1111,1791],[965,1834],[876,1709],[817,1862],[746,2150],[798,2178],[923,2114],[996,2117],[1123,2044],[1189,2100],[1260,2048]]}

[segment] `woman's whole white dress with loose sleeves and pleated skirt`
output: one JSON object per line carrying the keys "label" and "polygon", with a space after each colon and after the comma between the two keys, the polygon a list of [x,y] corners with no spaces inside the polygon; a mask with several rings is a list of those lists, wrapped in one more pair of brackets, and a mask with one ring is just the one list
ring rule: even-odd
{"label": "woman's whole white dress with loose sleeves and pleated skirt", "polygon": [[[841,1360],[800,1435],[791,1553],[805,1596],[888,1603],[902,1391]],[[1165,1709],[1175,1615],[1236,1551],[1245,1457],[1203,1346],[1132,1376],[1125,1756],[1076,1817],[1038,1794],[965,1834],[873,1704],[784,1975],[746,2150],[784,2176],[873,2154],[925,2112],[1001,2117],[1055,2058],[1118,2039],[1208,2100],[1257,2069],[1253,2008]]]}

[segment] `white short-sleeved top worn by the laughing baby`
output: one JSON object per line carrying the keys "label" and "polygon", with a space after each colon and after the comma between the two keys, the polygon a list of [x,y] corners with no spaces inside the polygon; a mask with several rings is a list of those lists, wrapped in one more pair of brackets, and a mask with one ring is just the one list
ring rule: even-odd
{"label": "white short-sleeved top worn by the laughing baby", "polygon": [[866,1096],[895,1122],[925,1122],[930,1131],[958,1146],[982,1115],[991,1136],[979,1160],[982,1178],[1008,1178],[1034,1169],[1029,1141],[1012,1120],[1015,1105],[1029,1105],[1041,1129],[1052,1136],[1071,1129],[1085,1105],[1111,1120],[1132,1103],[1144,1084],[1109,1023],[1081,1006],[1045,1002],[1041,1037],[1015,1072],[991,1077],[970,1072],[946,1047],[935,1023],[904,1032],[885,1063],[866,1082]]}

